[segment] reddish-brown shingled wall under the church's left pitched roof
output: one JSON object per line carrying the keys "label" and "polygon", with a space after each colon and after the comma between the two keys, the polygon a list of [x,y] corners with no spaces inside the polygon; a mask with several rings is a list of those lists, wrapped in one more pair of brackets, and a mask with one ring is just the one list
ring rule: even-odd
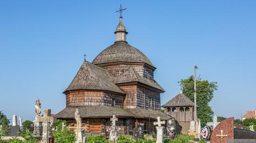
{"label": "reddish-brown shingled wall under the church's left pitched roof", "polygon": [[101,91],[71,91],[66,95],[66,106],[111,106],[112,98],[116,107],[123,107],[123,95]]}

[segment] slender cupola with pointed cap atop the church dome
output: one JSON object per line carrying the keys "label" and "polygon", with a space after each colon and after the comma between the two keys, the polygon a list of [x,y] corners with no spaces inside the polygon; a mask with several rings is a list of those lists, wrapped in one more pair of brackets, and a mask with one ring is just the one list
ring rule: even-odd
{"label": "slender cupola with pointed cap atop the church dome", "polygon": [[119,24],[116,27],[115,30],[115,43],[116,42],[126,42],[126,35],[128,34],[128,32],[126,31],[125,26],[123,25],[122,22],[122,17],[120,17],[120,21]]}

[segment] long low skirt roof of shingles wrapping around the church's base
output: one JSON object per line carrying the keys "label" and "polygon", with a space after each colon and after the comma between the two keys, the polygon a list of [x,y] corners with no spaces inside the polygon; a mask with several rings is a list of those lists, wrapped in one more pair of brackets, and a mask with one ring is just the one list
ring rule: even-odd
{"label": "long low skirt roof of shingles wrapping around the church's base", "polygon": [[115,115],[118,118],[157,118],[167,120],[169,115],[157,111],[149,111],[145,109],[126,109],[112,106],[68,106],[61,112],[54,115],[57,119],[74,118],[74,112],[78,109],[81,118],[111,118]]}

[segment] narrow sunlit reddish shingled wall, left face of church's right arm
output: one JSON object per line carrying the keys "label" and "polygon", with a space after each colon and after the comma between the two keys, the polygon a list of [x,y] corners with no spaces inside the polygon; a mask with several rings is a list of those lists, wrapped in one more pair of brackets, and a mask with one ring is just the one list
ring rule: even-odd
{"label": "narrow sunlit reddish shingled wall, left face of church's right arm", "polygon": [[137,96],[136,96],[136,85],[119,86],[126,94],[124,99],[124,108],[136,108]]}

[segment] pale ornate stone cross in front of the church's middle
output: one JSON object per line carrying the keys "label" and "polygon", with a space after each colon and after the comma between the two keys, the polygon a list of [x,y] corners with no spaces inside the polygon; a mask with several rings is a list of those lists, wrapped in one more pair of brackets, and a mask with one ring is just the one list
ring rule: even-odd
{"label": "pale ornate stone cross in front of the church's middle", "polygon": [[118,118],[115,117],[115,115],[113,115],[113,118],[110,118],[110,120],[112,121],[112,124],[110,127],[108,127],[107,131],[109,131],[109,140],[113,141],[114,143],[116,143],[117,140],[117,132],[121,130],[120,127],[115,125],[115,121],[118,121]]}

